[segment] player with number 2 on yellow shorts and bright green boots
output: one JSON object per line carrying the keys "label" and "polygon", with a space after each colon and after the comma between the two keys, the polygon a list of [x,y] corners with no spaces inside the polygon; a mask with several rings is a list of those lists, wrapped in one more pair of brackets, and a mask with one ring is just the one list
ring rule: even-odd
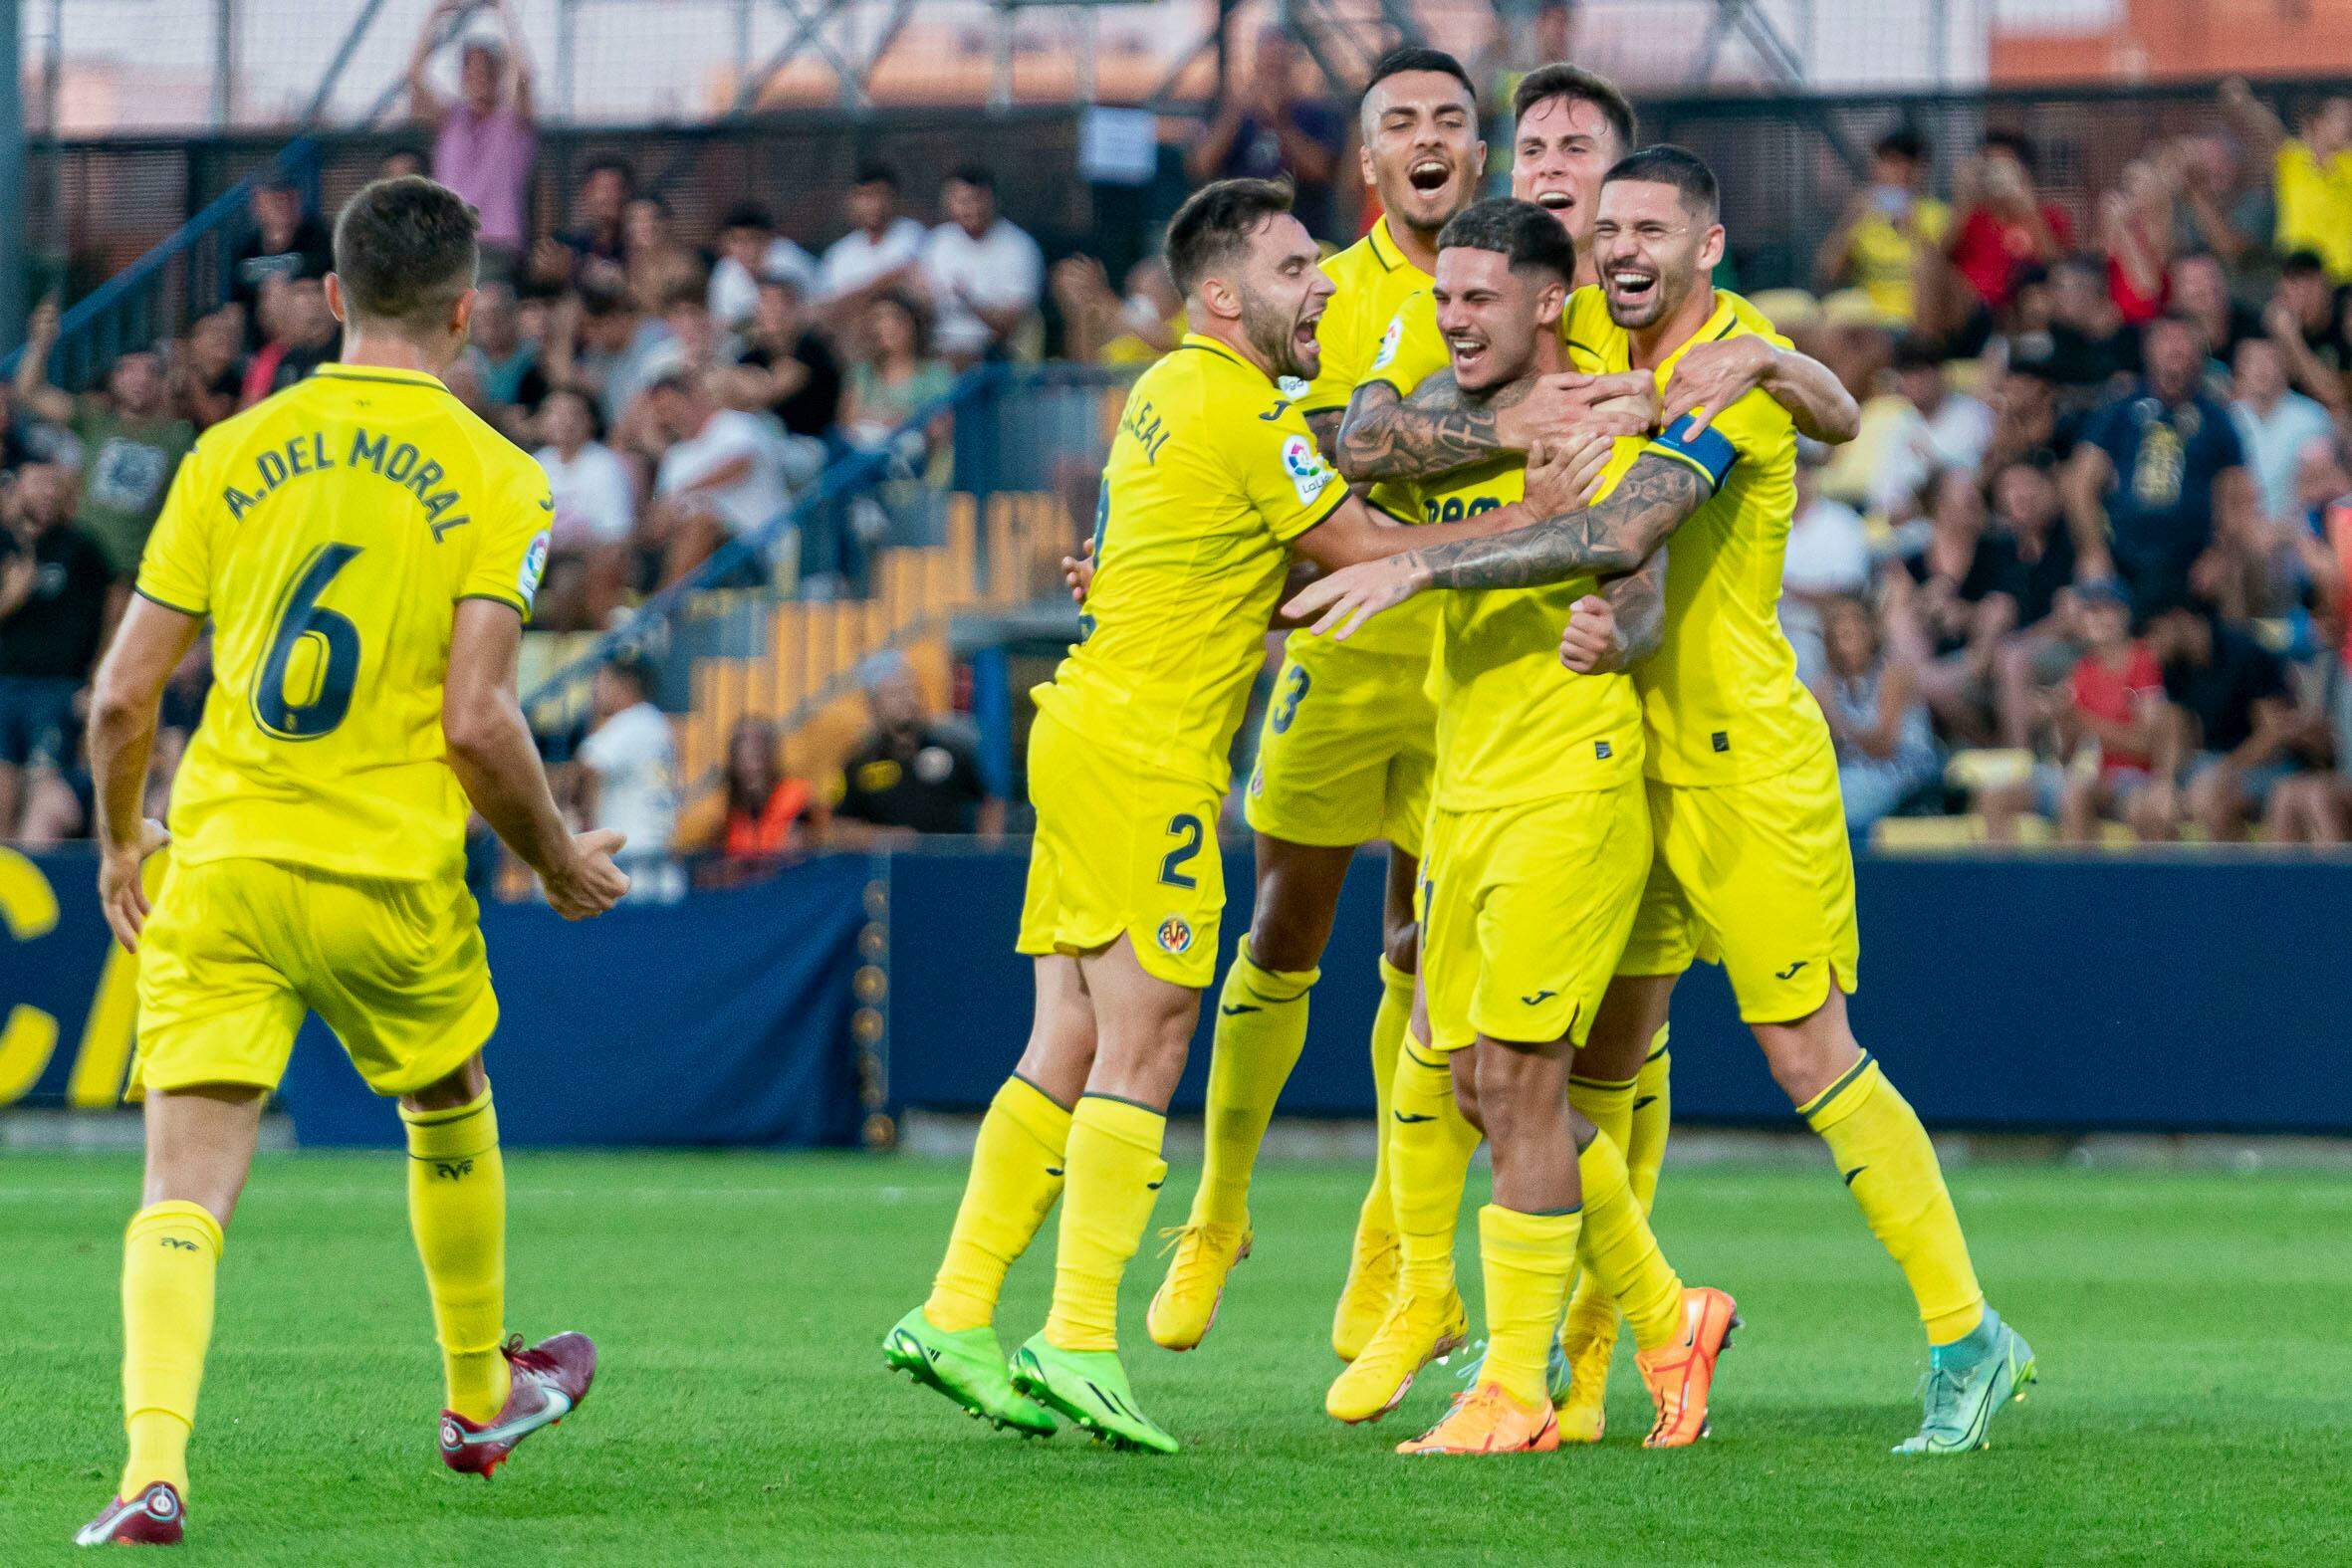
{"label": "player with number 2 on yellow shorts and bright green boots", "polygon": [[[1058,1413],[1157,1453],[1176,1439],[1120,1366],[1120,1279],[1167,1175],[1167,1103],[1216,971],[1232,733],[1289,557],[1336,569],[1414,538],[1348,494],[1282,390],[1315,374],[1331,299],[1289,188],[1204,186],[1169,223],[1167,256],[1192,331],[1127,397],[1084,632],[1035,691],[1018,940],[1037,959],[1035,1023],[981,1121],[931,1295],[882,1345],[889,1366],[1000,1427],[1044,1434]],[[1054,1312],[1007,1368],[997,1293],[1056,1199]]]}

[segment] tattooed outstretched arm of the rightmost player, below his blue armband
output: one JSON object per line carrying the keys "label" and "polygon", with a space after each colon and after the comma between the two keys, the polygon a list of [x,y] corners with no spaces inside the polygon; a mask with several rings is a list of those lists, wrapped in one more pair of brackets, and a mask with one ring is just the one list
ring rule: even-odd
{"label": "tattooed outstretched arm of the rightmost player, below his blue armband", "polygon": [[1599,505],[1334,571],[1282,609],[1298,621],[1315,616],[1317,632],[1345,637],[1423,588],[1534,588],[1585,574],[1628,576],[1712,494],[1689,463],[1646,451]]}

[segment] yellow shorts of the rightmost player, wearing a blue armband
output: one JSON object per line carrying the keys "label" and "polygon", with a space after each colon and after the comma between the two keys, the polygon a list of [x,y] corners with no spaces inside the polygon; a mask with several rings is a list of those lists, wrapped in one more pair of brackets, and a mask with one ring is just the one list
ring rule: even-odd
{"label": "yellow shorts of the rightmost player, wearing a blue armband", "polygon": [[1853,844],[1823,745],[1788,773],[1740,785],[1649,783],[1658,853],[1618,973],[1722,964],[1748,1023],[1790,1023],[1860,985]]}

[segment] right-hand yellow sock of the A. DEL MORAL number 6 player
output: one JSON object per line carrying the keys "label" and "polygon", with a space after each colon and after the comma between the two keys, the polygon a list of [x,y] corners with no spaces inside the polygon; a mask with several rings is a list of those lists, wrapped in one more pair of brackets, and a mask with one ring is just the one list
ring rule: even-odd
{"label": "right-hand yellow sock of the A. DEL MORAL number 6 player", "polygon": [[485,1088],[456,1110],[400,1107],[409,1128],[409,1232],[426,1265],[449,1408],[489,1422],[506,1408],[506,1161]]}

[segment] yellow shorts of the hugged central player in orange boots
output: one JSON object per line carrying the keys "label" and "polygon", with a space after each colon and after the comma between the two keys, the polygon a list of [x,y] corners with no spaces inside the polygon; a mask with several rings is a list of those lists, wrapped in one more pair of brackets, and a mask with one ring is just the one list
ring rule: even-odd
{"label": "yellow shorts of the hugged central player in orange boots", "polygon": [[1430,1044],[1585,1041],[1649,872],[1637,783],[1430,813],[1421,983]]}

